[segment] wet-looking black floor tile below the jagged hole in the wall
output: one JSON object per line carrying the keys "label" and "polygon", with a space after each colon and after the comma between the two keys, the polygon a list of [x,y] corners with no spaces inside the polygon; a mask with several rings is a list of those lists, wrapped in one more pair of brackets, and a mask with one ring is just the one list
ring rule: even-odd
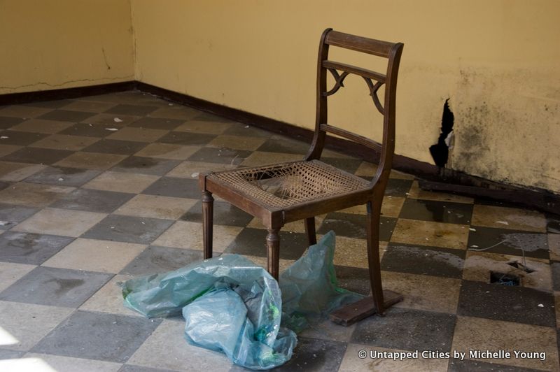
{"label": "wet-looking black floor tile below the jagged hole in the wall", "polygon": [[409,220],[470,224],[471,215],[471,204],[406,199],[400,210],[399,217]]}

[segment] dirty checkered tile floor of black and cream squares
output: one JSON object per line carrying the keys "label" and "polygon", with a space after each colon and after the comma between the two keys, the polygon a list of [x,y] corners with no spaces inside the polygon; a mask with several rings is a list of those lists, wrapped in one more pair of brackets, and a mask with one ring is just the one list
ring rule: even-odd
{"label": "dirty checkered tile floor of black and cream squares", "polygon": [[[197,173],[301,159],[306,150],[140,92],[0,107],[0,369],[238,370],[188,345],[181,319],[125,309],[116,283],[202,258]],[[359,176],[374,171],[333,151],[323,159]],[[405,300],[353,327],[305,331],[282,370],[559,370],[559,217],[425,192],[396,171],[382,213],[384,286]],[[364,214],[350,208],[317,223],[319,234],[337,234],[342,285],[367,294]],[[257,220],[218,200],[215,222],[218,252],[265,264]],[[303,224],[283,229],[281,247],[281,267],[300,257]],[[490,284],[491,271],[520,276],[521,286]],[[360,359],[360,350],[467,356],[393,361]],[[476,360],[470,350],[512,357]]]}

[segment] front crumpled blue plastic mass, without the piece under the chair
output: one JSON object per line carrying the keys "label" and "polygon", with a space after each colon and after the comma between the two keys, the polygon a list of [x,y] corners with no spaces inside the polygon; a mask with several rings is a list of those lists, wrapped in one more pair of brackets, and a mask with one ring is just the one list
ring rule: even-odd
{"label": "front crumpled blue plastic mass, without the piece under the chair", "polygon": [[193,262],[176,271],[123,283],[125,306],[147,317],[178,315],[186,320],[186,339],[224,352],[250,369],[286,363],[297,336],[281,329],[278,282],[239,255]]}

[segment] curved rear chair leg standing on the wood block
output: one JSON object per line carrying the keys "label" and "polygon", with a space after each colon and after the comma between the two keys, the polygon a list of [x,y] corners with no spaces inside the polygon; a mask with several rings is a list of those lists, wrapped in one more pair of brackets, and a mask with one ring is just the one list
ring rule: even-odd
{"label": "curved rear chair leg standing on the wood block", "polygon": [[377,314],[384,312],[383,285],[381,285],[381,265],[379,264],[379,219],[381,201],[367,202],[367,262],[370,267],[370,284]]}

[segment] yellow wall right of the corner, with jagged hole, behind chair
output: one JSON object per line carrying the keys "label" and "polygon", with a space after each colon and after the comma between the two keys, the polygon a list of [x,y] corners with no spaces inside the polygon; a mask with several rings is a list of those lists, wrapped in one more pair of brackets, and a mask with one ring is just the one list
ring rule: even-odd
{"label": "yellow wall right of the corner, with jagged hole, behind chair", "polygon": [[[450,97],[454,169],[560,192],[559,15],[554,0],[132,0],[136,78],[311,128],[323,29],[402,41],[398,154],[432,162]],[[346,85],[332,118],[379,139],[355,113],[365,85]]]}

